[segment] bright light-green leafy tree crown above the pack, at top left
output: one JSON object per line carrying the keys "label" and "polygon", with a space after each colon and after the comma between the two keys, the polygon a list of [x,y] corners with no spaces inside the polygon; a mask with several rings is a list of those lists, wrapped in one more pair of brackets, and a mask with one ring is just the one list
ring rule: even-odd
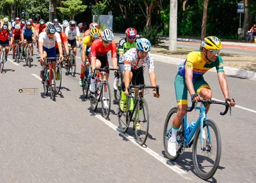
{"label": "bright light-green leafy tree crown above the pack, at top left", "polygon": [[58,7],[57,9],[61,11],[61,13],[67,15],[70,17],[70,20],[74,20],[75,16],[79,13],[82,13],[86,9],[86,5],[82,5],[83,1],[79,0],[67,0],[67,1],[61,1],[63,7]]}

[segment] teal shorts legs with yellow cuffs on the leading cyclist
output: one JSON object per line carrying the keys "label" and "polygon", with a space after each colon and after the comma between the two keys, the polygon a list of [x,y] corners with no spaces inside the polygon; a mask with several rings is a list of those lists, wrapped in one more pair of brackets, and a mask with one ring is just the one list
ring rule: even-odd
{"label": "teal shorts legs with yellow cuffs on the leading cyclist", "polygon": [[[193,85],[196,93],[200,93],[202,88],[211,89],[211,87],[205,82],[204,77],[198,77],[193,80]],[[177,73],[174,81],[175,96],[177,105],[188,105],[188,88],[186,85],[185,77]]]}

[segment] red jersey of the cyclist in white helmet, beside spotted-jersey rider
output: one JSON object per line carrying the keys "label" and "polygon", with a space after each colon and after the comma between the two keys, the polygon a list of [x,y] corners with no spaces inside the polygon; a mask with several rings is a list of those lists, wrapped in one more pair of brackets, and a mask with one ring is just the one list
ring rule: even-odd
{"label": "red jersey of the cyclist in white helmet, beside spotted-jersey rider", "polygon": [[104,47],[101,40],[97,39],[92,43],[91,57],[104,56],[109,52],[109,50],[111,50],[112,57],[116,57],[116,43],[112,41],[108,47]]}

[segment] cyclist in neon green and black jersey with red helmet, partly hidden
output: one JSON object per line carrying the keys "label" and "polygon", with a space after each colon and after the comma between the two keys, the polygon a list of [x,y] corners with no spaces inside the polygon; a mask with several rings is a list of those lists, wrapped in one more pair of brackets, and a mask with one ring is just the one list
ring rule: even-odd
{"label": "cyclist in neon green and black jersey with red helmet, partly hidden", "polygon": [[[119,71],[122,74],[124,71],[124,59],[119,59],[125,52],[127,52],[130,48],[136,48],[136,36],[137,36],[137,31],[136,29],[129,27],[125,31],[126,37],[123,38],[122,40],[119,41],[118,48],[117,48],[117,58],[118,58],[118,67]],[[115,80],[113,87],[115,90],[117,90],[117,85],[119,82],[119,75],[118,72],[115,73]]]}

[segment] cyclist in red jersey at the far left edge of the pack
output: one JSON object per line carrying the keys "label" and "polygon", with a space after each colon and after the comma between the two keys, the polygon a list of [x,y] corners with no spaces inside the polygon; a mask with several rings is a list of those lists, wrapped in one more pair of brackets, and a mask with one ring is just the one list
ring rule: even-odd
{"label": "cyclist in red jersey at the far left edge of the pack", "polygon": [[0,51],[2,50],[1,45],[6,45],[5,47],[5,62],[7,61],[7,56],[9,52],[9,39],[12,37],[12,31],[8,29],[8,24],[3,24],[0,29]]}

